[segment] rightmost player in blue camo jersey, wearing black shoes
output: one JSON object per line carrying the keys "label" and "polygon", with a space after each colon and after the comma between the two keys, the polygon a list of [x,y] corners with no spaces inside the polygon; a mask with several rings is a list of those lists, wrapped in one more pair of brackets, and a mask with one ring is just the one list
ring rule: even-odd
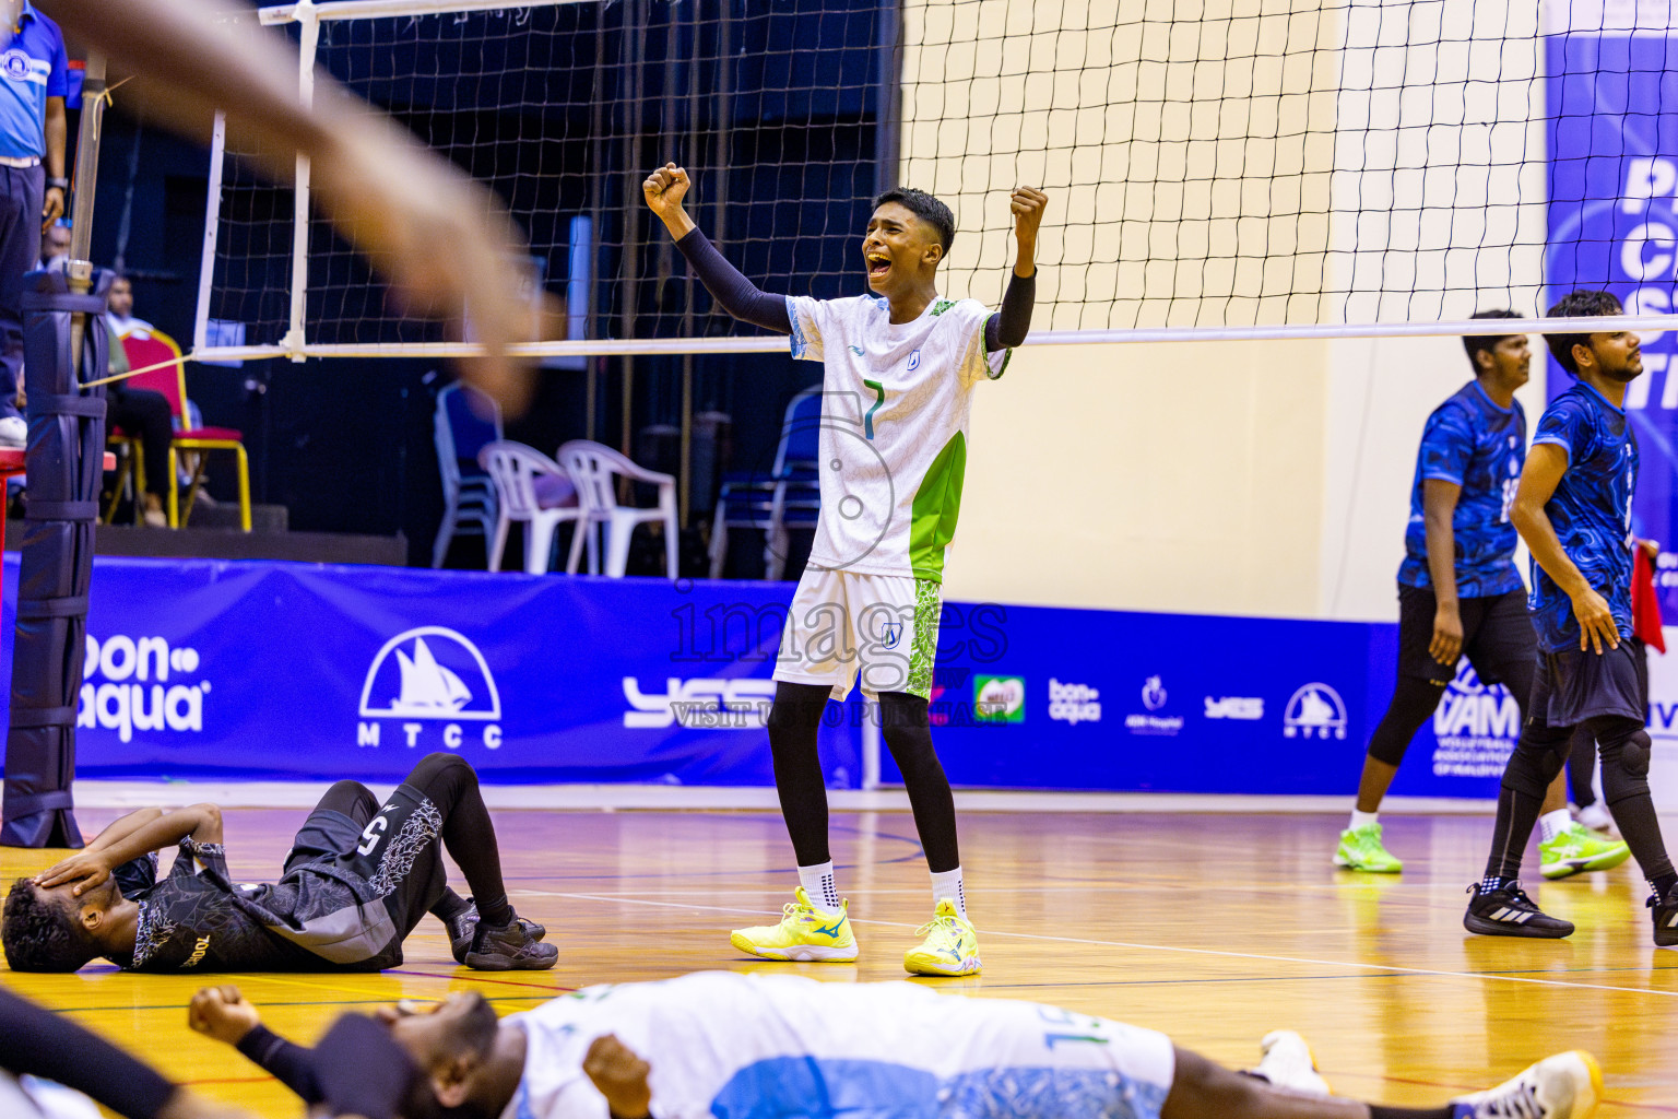
{"label": "rightmost player in blue camo jersey, wearing black shoes", "polygon": [[[1572,292],[1552,319],[1621,314],[1608,292]],[[1503,772],[1485,877],[1463,926],[1487,936],[1567,936],[1520,889],[1520,856],[1544,790],[1567,760],[1576,726],[1602,758],[1602,800],[1655,891],[1655,943],[1678,945],[1678,874],[1649,799],[1649,735],[1631,651],[1631,495],[1638,438],[1626,386],[1643,372],[1629,330],[1545,336],[1577,384],[1550,401],[1520,473],[1510,520],[1532,549],[1532,619],[1539,659],[1530,713]]]}

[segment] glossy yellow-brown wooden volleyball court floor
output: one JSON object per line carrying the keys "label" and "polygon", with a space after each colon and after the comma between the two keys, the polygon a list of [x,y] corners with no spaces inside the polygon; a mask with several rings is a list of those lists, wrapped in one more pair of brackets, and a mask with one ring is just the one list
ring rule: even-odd
{"label": "glossy yellow-brown wooden volleyball court floor", "polygon": [[[89,830],[116,812],[82,810]],[[295,810],[228,810],[230,864],[270,877]],[[834,814],[856,965],[738,956],[728,929],[779,914],[795,876],[779,815],[740,812],[497,812],[513,903],[549,926],[554,971],[455,966],[426,919],[403,968],[371,976],[253,975],[237,981],[268,1025],[312,1040],[347,1008],[477,988],[498,1010],[602,981],[700,968],[794,970],[852,983],[903,978],[930,914],[926,866],[906,814]],[[1436,1104],[1562,1049],[1606,1074],[1599,1114],[1678,1114],[1678,951],[1649,938],[1631,864],[1534,893],[1579,931],[1567,941],[1468,936],[1465,887],[1488,817],[1391,817],[1399,877],[1334,871],[1334,815],[963,817],[963,864],[985,971],[933,981],[982,998],[1057,1003],[1168,1032],[1232,1065],[1258,1038],[1297,1028],[1346,1096]],[[1678,849],[1678,820],[1666,820]],[[50,861],[0,849],[10,882]],[[1537,881],[1537,854],[1529,854]],[[89,966],[74,976],[0,971],[0,981],[146,1054],[168,1075],[265,1116],[295,1101],[238,1054],[190,1033],[201,981]]]}

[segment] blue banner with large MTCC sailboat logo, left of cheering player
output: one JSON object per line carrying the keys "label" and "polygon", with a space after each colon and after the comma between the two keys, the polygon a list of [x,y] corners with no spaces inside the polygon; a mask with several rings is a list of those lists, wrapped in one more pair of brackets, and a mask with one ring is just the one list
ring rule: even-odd
{"label": "blue banner with large MTCC sailboat logo, left of cheering player", "polygon": [[[500,782],[772,783],[785,592],[717,586],[101,557],[77,772],[398,780],[456,750]],[[861,720],[834,721],[856,787]]]}

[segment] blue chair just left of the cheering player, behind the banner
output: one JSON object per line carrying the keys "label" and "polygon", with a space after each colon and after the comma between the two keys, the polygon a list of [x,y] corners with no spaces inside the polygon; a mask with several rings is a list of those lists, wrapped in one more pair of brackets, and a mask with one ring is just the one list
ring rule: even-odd
{"label": "blue chair just left of the cheering player, behind the banner", "polygon": [[805,389],[787,404],[780,445],[769,476],[723,483],[711,518],[711,579],[728,559],[728,528],[763,532],[763,577],[780,579],[787,567],[787,530],[814,528],[822,508],[821,460],[822,391]]}

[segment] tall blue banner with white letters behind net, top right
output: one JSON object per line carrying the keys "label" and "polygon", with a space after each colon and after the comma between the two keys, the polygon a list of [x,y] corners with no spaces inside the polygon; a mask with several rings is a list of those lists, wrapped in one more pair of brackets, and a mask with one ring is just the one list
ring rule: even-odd
{"label": "tall blue banner with white letters behind net, top right", "polygon": [[[1584,7],[1574,27],[1591,25]],[[1594,25],[1602,25],[1599,13]],[[1628,314],[1678,310],[1678,35],[1665,20],[1649,30],[1567,27],[1559,20],[1544,45],[1550,121],[1545,307],[1587,287],[1608,289]],[[1643,336],[1643,376],[1626,391],[1643,456],[1633,517],[1639,535],[1661,542],[1656,584],[1668,617],[1678,617],[1675,354],[1678,332]],[[1549,394],[1571,384],[1552,361]]]}

